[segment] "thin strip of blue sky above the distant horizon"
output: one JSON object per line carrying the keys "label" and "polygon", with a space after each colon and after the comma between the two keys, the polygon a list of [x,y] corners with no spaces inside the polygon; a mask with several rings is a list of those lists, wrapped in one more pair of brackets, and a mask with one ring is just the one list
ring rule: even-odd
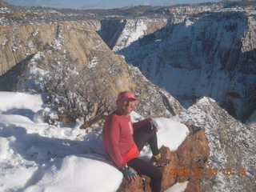
{"label": "thin strip of blue sky above the distant horizon", "polygon": [[124,6],[173,6],[182,3],[220,2],[221,0],[3,0],[16,6],[50,6],[71,9],[109,9]]}

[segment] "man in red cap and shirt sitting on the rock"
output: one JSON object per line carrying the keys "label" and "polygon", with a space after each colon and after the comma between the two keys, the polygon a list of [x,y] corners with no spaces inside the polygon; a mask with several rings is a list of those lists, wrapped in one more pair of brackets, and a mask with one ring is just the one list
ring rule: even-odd
{"label": "man in red cap and shirt sitting on the rock", "polygon": [[[117,110],[108,116],[103,126],[102,138],[110,160],[118,166],[124,176],[133,181],[137,174],[150,177],[150,188],[153,192],[161,191],[162,172],[157,166],[170,164],[158,150],[158,126],[152,118],[132,123],[130,113],[138,99],[130,91],[118,94]],[[150,162],[138,158],[146,142],[150,145],[153,157]]]}

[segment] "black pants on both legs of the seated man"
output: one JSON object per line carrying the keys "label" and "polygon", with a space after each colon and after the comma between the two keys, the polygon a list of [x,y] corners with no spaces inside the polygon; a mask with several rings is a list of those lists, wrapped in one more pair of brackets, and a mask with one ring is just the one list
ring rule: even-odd
{"label": "black pants on both legs of the seated man", "polygon": [[[154,155],[159,154],[158,140],[155,130],[151,130],[150,124],[143,126],[134,132],[134,142],[138,150],[141,151],[146,142],[150,145],[150,149]],[[143,174],[150,177],[150,188],[152,192],[161,191],[162,172],[158,167],[151,165],[140,158],[133,158],[127,162],[127,165],[137,171],[138,174]]]}

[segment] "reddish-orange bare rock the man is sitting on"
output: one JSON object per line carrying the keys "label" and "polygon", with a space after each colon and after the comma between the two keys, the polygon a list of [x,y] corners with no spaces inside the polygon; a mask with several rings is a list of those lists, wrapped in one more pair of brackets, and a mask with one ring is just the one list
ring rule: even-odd
{"label": "reddish-orange bare rock the man is sitting on", "polygon": [[[187,127],[190,130],[190,134],[176,151],[171,152],[165,146],[162,146],[161,148],[161,153],[166,155],[166,157],[170,158],[172,161],[170,166],[162,166],[159,168],[163,174],[162,191],[173,186],[176,182],[189,181],[188,186],[186,187],[186,192],[199,192],[202,190],[198,179],[203,179],[206,177],[206,174],[213,174],[204,169],[210,154],[208,140],[204,131],[196,126],[187,125]],[[201,173],[200,169],[204,171]],[[143,182],[142,178],[145,178],[145,182]],[[143,175],[142,178],[132,183],[124,179],[118,191],[150,192],[149,178]]]}

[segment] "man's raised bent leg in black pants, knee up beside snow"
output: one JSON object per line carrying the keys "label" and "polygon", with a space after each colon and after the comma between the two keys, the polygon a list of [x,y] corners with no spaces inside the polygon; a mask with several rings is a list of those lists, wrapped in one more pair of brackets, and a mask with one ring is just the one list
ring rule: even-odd
{"label": "man's raised bent leg in black pants, knee up beside snow", "polygon": [[143,146],[145,146],[147,142],[150,145],[153,155],[160,153],[158,150],[158,138],[156,130],[151,129],[150,123],[146,124],[146,126],[142,126],[134,132],[134,142],[136,143],[139,151],[142,150]]}

